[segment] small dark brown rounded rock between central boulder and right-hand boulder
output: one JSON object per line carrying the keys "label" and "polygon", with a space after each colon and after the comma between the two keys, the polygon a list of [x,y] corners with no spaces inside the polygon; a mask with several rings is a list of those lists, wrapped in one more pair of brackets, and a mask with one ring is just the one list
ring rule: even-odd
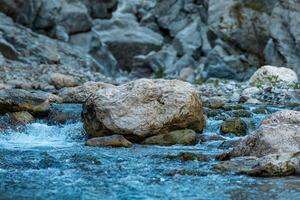
{"label": "small dark brown rounded rock between central boulder and right-hand boulder", "polygon": [[236,136],[244,136],[247,133],[247,124],[238,117],[229,118],[221,125],[222,133],[233,133]]}

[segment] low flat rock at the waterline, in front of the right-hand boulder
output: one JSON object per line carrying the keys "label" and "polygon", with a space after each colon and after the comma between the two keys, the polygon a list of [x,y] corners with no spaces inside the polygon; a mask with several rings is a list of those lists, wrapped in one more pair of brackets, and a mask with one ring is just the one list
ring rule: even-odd
{"label": "low flat rock at the waterline, in front of the right-hand boulder", "polygon": [[249,176],[274,177],[300,174],[300,152],[270,154],[258,159],[252,169],[243,170]]}

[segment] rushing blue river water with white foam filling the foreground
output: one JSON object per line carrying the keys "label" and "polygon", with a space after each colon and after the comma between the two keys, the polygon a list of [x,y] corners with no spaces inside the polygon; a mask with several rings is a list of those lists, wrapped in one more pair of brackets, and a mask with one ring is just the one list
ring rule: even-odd
{"label": "rushing blue river water with white foam filling the foreground", "polygon": [[[251,110],[251,108],[249,108]],[[276,109],[275,109],[276,110]],[[255,126],[264,118],[255,115]],[[208,120],[204,134],[218,132]],[[40,121],[0,134],[0,199],[299,199],[300,179],[253,178],[214,172],[220,142],[196,146],[91,148],[81,122]],[[164,158],[203,153],[209,162]],[[177,174],[174,172],[191,172]]]}

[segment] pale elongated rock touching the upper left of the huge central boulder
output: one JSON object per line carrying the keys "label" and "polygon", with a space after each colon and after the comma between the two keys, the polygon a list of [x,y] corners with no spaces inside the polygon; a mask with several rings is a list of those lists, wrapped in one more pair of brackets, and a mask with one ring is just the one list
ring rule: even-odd
{"label": "pale elongated rock touching the upper left of the huge central boulder", "polygon": [[97,90],[113,87],[113,85],[103,82],[86,82],[81,86],[73,88],[63,88],[59,91],[64,103],[84,103]]}

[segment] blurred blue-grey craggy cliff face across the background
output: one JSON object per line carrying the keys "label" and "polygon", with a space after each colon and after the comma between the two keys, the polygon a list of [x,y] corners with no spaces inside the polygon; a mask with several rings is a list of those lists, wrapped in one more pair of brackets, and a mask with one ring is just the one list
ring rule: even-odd
{"label": "blurred blue-grey craggy cliff face across the background", "polygon": [[89,80],[125,70],[133,78],[243,81],[264,64],[300,75],[299,0],[0,2],[14,21],[1,15],[6,66],[63,64],[99,73],[83,77]]}

